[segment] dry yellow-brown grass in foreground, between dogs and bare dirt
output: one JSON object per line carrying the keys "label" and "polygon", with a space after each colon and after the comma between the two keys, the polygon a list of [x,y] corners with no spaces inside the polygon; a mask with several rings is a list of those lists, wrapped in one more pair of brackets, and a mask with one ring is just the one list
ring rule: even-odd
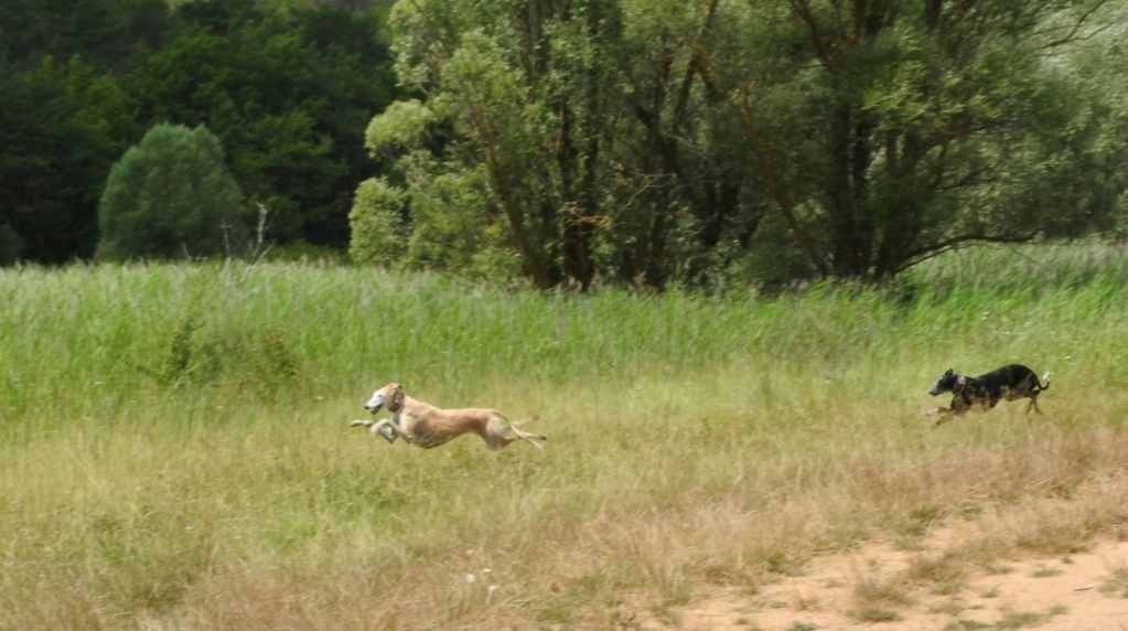
{"label": "dry yellow-brown grass in foreground, between dogs and bare dirt", "polygon": [[[1060,394],[1059,405],[1077,396]],[[1109,413],[1128,410],[1110,398]],[[555,421],[546,455],[470,441],[395,449],[263,424],[95,447],[72,429],[44,446],[50,458],[21,464],[65,483],[27,482],[34,508],[19,515],[45,532],[8,553],[5,582],[30,598],[2,625],[592,628],[624,611],[661,616],[719,585],[751,594],[867,541],[958,533],[942,558],[858,578],[855,617],[891,620],[901,581],[954,593],[968,567],[1084,550],[1128,526],[1118,427],[999,410],[922,433],[873,414],[800,448],[809,430],[794,417],[793,436],[778,424],[772,436],[758,417],[706,405],[720,419],[706,441],[638,405]],[[693,407],[658,405],[673,418]],[[417,496],[385,485],[413,480]]]}

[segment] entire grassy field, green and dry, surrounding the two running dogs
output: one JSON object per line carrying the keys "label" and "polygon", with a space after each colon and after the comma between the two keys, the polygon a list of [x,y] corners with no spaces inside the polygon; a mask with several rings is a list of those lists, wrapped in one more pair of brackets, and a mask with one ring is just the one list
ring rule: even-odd
{"label": "entire grassy field, green and dry, surrounding the two running dogs", "polygon": [[[952,563],[1083,550],[1128,536],[1126,313],[1100,243],[778,297],[0,270],[0,629],[677,626],[708,586],[941,523],[994,526]],[[1014,361],[1054,374],[1046,414],[928,430],[941,373]],[[550,439],[350,429],[393,380]]]}

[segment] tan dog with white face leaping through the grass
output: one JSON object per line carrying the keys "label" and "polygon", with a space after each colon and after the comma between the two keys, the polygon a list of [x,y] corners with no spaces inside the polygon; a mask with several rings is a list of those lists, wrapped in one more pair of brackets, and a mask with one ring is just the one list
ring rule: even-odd
{"label": "tan dog with white face leaping through the grass", "polygon": [[440,410],[430,403],[405,395],[399,384],[388,384],[376,391],[372,398],[364,404],[364,409],[373,415],[385,407],[391,412],[391,418],[377,422],[353,421],[350,424],[367,427],[370,433],[380,436],[388,442],[395,442],[397,437],[403,437],[407,442],[424,449],[438,447],[467,432],[481,436],[491,449],[501,449],[517,439],[528,440],[538,449],[543,449],[544,447],[534,438],[548,440],[539,433],[519,429],[525,423],[536,421],[539,415],[534,414],[528,420],[510,422],[496,410],[482,407]]}

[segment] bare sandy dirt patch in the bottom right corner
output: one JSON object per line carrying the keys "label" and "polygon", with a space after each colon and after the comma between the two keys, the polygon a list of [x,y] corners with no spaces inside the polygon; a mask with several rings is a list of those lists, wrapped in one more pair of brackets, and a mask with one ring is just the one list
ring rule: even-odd
{"label": "bare sandy dirt patch in the bottom right corner", "polygon": [[[955,562],[952,552],[959,553]],[[987,554],[986,556],[992,556]],[[934,571],[936,576],[928,576]],[[627,628],[710,631],[828,629],[1040,631],[1128,630],[1128,542],[1094,542],[1054,558],[968,559],[948,528],[911,550],[871,544],[816,558],[802,576],[755,594],[717,588],[662,619]]]}

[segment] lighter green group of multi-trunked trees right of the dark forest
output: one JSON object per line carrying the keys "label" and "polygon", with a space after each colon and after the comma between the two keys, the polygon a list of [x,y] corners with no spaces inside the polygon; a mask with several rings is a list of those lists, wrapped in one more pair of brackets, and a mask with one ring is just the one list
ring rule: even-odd
{"label": "lighter green group of multi-trunked trees right of the dark forest", "polygon": [[426,99],[369,126],[402,192],[354,221],[406,207],[405,264],[539,287],[885,279],[1123,228],[1125,7],[398,2],[397,71]]}

